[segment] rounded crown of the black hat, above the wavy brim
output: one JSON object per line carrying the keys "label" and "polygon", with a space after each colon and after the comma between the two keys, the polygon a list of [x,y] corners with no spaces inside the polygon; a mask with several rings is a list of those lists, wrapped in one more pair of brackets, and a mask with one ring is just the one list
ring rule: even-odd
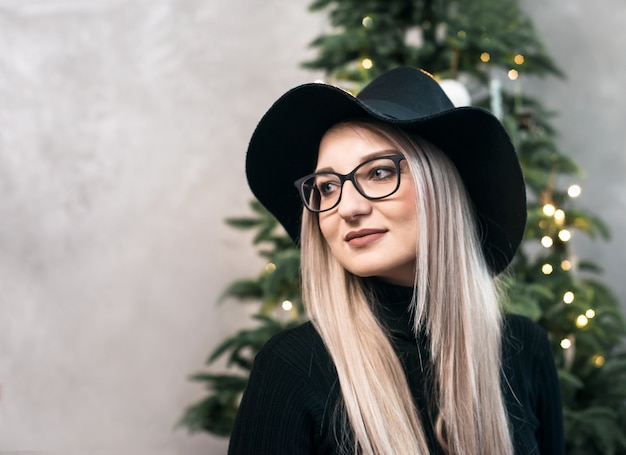
{"label": "rounded crown of the black hat, above the wavy brim", "polygon": [[413,121],[454,109],[452,101],[431,75],[409,67],[383,74],[366,86],[357,99],[395,120]]}

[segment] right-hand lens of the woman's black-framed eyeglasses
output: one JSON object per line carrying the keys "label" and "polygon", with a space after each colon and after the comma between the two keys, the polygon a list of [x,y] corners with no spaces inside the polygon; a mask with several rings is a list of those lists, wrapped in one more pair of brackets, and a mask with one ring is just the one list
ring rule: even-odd
{"label": "right-hand lens of the woman's black-framed eyeglasses", "polygon": [[397,160],[377,158],[361,164],[356,170],[354,180],[361,192],[370,199],[381,199],[398,189],[400,173]]}

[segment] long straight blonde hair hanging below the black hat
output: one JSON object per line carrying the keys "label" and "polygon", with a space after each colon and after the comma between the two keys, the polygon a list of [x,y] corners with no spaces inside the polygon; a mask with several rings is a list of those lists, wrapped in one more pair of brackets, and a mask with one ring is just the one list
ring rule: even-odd
{"label": "long straight blonde hair hanging below the black hat", "polygon": [[[333,128],[350,126],[391,142],[405,155],[413,180],[402,184],[415,185],[420,226],[411,309],[415,333],[430,340],[439,443],[455,455],[512,454],[500,387],[499,293],[461,178],[419,137],[370,121]],[[407,378],[361,278],[338,263],[317,216],[306,210],[301,239],[304,302],[336,367],[355,453],[428,454]]]}

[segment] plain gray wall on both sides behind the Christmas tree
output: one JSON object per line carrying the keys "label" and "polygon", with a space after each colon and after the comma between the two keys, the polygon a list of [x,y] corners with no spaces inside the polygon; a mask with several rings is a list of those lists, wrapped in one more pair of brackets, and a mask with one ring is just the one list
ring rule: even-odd
{"label": "plain gray wall on both sides behind the Christmas tree", "polygon": [[[263,264],[223,219],[247,213],[260,115],[318,77],[309,3],[0,0],[0,451],[224,453],[173,426],[248,323],[215,302]],[[532,89],[615,234],[576,250],[624,302],[626,6],[524,3],[569,75]]]}

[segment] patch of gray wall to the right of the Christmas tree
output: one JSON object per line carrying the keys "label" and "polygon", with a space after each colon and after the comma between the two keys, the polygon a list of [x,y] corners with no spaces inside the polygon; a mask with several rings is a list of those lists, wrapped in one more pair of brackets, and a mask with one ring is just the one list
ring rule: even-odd
{"label": "patch of gray wall to the right of the Christmas tree", "polygon": [[558,112],[560,145],[581,165],[576,202],[610,228],[609,242],[574,234],[573,252],[604,269],[602,281],[626,311],[626,3],[523,0],[548,51],[566,75],[528,86]]}

